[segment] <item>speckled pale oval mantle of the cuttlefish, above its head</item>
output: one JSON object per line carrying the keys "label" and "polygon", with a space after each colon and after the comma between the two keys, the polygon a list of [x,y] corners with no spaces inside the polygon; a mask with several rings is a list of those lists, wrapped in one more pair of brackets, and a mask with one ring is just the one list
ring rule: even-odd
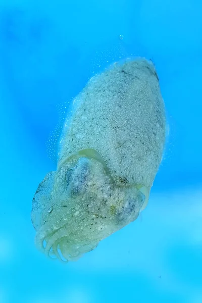
{"label": "speckled pale oval mantle of the cuttlefish, above its head", "polygon": [[77,96],[59,163],[91,147],[121,184],[153,184],[165,138],[164,103],[153,63],[127,62],[97,75]]}

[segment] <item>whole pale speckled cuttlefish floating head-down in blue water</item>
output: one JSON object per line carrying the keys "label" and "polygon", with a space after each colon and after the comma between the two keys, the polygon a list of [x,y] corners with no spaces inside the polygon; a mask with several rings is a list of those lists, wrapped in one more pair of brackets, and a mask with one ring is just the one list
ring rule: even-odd
{"label": "whole pale speckled cuttlefish floating head-down in blue water", "polygon": [[45,176],[33,198],[37,247],[74,261],[134,221],[159,169],[165,125],[150,61],[126,61],[93,77],[64,126],[57,171]]}

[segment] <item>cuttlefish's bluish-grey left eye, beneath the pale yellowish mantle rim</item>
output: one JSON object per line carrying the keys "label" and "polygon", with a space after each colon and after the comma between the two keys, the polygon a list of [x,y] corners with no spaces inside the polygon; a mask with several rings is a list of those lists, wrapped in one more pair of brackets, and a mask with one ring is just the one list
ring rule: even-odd
{"label": "cuttlefish's bluish-grey left eye, beneath the pale yellowish mantle rim", "polygon": [[68,169],[65,180],[72,195],[81,194],[86,190],[89,174],[90,161],[84,157],[79,158],[76,165]]}

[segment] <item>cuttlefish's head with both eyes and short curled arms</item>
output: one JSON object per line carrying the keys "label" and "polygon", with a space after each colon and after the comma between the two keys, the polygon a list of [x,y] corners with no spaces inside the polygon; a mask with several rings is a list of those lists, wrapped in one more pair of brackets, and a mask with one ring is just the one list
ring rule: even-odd
{"label": "cuttlefish's head with both eyes and short curled arms", "polygon": [[80,150],[38,186],[31,214],[36,245],[53,259],[77,260],[134,221],[147,200],[144,186],[115,184],[96,150]]}

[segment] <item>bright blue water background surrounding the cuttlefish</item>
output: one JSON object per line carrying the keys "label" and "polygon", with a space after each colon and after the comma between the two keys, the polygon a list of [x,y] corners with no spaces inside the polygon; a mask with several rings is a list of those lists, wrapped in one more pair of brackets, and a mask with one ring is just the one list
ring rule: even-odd
{"label": "bright blue water background surrounding the cuttlefish", "polygon": [[[0,1],[1,303],[202,302],[201,13],[199,0]],[[46,142],[58,105],[120,49],[156,64],[165,159],[140,218],[65,266],[34,247]]]}

